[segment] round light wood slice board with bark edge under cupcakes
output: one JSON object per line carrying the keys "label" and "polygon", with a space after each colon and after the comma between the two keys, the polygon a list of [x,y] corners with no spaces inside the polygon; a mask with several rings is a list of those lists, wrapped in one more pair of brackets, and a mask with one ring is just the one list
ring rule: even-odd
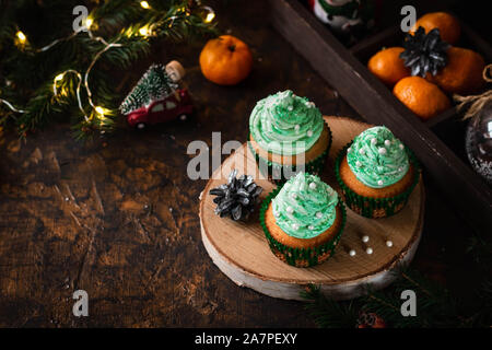
{"label": "round light wood slice board with bark edge under cupcakes", "polygon": [[[321,179],[339,189],[332,175],[337,152],[371,125],[343,117],[325,117],[331,128],[333,142]],[[300,291],[308,283],[320,287],[326,295],[352,299],[362,295],[365,287],[380,289],[393,281],[391,269],[408,264],[420,241],[424,212],[422,178],[409,202],[398,214],[385,219],[366,219],[347,209],[347,225],[335,255],[319,266],[296,268],[282,262],[270,250],[256,214],[246,222],[234,222],[215,215],[210,189],[226,182],[233,168],[238,174],[253,175],[263,187],[261,200],[276,185],[261,178],[255,158],[247,144],[236,150],[216,170],[200,196],[200,224],[203,245],[213,262],[241,287],[281,299],[301,300]],[[259,208],[259,206],[258,206]],[[370,241],[362,242],[367,235]],[[386,241],[393,246],[388,247]],[[372,254],[366,248],[373,249]],[[355,256],[349,252],[355,250]]]}

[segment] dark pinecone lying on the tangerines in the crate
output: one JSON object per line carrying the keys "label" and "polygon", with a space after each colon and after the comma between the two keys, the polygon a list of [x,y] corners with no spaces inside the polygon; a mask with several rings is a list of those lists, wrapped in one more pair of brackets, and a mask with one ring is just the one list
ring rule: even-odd
{"label": "dark pinecone lying on the tangerines in the crate", "polygon": [[425,30],[419,26],[413,35],[406,35],[405,51],[400,54],[400,58],[405,61],[405,66],[412,70],[412,75],[425,78],[427,72],[435,75],[447,65],[448,47],[449,44],[441,39],[438,28],[425,34]]}

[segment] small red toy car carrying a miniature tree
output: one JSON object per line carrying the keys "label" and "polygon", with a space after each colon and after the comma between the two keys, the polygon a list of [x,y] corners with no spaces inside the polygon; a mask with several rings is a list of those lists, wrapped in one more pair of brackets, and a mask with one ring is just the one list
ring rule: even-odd
{"label": "small red toy car carrying a miniature tree", "polygon": [[137,129],[148,125],[165,122],[177,117],[186,119],[194,112],[191,97],[186,89],[176,89],[168,96],[142,106],[127,116],[128,124]]}

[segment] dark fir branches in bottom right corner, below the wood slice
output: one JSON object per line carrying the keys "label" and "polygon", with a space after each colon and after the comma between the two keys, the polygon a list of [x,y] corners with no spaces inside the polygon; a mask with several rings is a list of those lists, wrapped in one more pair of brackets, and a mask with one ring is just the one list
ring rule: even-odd
{"label": "dark fir branches in bottom right corner, below the wood slice", "polygon": [[[465,303],[453,296],[447,289],[422,276],[418,270],[405,268],[394,271],[396,280],[382,291],[366,287],[366,295],[350,302],[336,302],[320,293],[319,288],[309,287],[301,295],[306,300],[305,308],[319,327],[354,327],[356,315],[375,313],[389,327],[490,327],[492,324],[492,281],[485,280],[477,292],[480,301],[475,307],[465,308]],[[417,294],[417,316],[403,317],[400,312],[403,301],[401,292],[413,290]]]}

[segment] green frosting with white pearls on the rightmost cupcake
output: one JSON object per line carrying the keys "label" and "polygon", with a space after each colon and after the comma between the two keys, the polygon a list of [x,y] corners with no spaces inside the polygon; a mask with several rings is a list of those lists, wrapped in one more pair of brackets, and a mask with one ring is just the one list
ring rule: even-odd
{"label": "green frosting with white pearls on the rightmost cupcake", "polygon": [[386,127],[373,127],[359,135],[347,150],[355,177],[372,188],[398,183],[409,170],[403,143]]}

